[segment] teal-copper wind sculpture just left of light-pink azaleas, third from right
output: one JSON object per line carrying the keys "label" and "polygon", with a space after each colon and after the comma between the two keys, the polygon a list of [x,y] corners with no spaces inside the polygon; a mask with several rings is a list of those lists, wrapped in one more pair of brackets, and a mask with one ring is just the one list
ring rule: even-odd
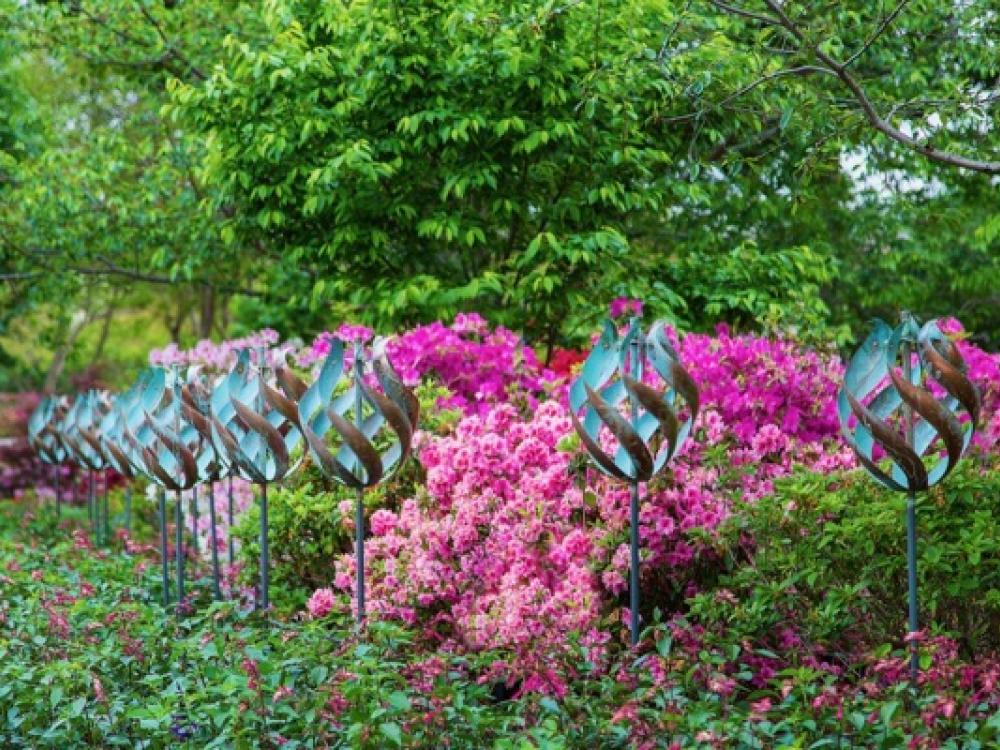
{"label": "teal-copper wind sculpture just left of light-pink azaleas, third from right", "polygon": [[[331,341],[330,353],[319,376],[300,394],[298,418],[319,470],[357,492],[355,556],[360,625],[365,619],[364,493],[399,471],[409,457],[420,407],[416,396],[389,362],[384,340],[377,340],[367,350],[356,342],[353,354],[353,377],[348,381],[344,342]],[[381,391],[374,387],[373,381],[377,381]],[[384,449],[373,444],[380,432],[385,433],[389,442]],[[379,442],[381,445],[382,441]]]}

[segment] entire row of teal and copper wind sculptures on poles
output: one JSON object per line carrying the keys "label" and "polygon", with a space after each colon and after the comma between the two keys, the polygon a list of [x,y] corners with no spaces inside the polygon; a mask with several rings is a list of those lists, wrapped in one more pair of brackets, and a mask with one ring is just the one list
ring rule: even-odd
{"label": "entire row of teal and copper wind sculptures on poles", "polygon": [[[920,327],[904,314],[896,328],[877,321],[848,364],[838,395],[844,435],[865,469],[890,489],[907,493],[909,628],[918,629],[915,495],[937,484],[968,447],[979,416],[979,394],[965,376],[954,343],[937,321]],[[652,374],[655,373],[655,377]],[[659,380],[660,387],[651,381]],[[936,390],[932,384],[936,383]],[[640,633],[641,485],[663,472],[691,434],[699,395],[662,322],[644,330],[638,317],[619,332],[608,321],[569,391],[573,425],[594,465],[631,488],[630,636]],[[960,413],[964,412],[964,422]],[[30,438],[43,461],[74,462],[91,472],[112,468],[161,488],[159,520],[164,602],[169,602],[165,493],[176,494],[176,586],[184,596],[181,493],[232,477],[260,487],[260,584],[257,605],[269,606],[267,488],[295,471],[308,453],[327,478],[356,491],[357,618],[365,617],[364,491],[392,476],[409,457],[419,409],[396,374],[385,342],[355,343],[350,368],[344,342],[334,339],[311,385],[287,367],[239,353],[233,368],[212,380],[191,368],[147,371],[125,393],[46,399],[32,415]],[[898,417],[898,418],[897,418]],[[386,446],[379,450],[376,447]],[[944,457],[941,458],[940,454]],[[926,458],[925,458],[926,457]],[[930,466],[928,466],[930,464]],[[58,475],[56,481],[58,482]],[[109,533],[105,490],[101,515],[90,483],[95,528]],[[58,497],[58,492],[57,492]],[[219,596],[214,502],[209,504],[213,589]],[[230,541],[229,559],[233,550]],[[913,678],[918,670],[914,650]]]}

